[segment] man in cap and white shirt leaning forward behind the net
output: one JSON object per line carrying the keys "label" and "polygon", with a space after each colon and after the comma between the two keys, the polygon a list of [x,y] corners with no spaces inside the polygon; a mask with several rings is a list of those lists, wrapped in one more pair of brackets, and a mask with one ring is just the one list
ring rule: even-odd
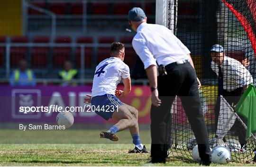
{"label": "man in cap and white shirt leaning forward behind the net", "polygon": [[[219,79],[218,94],[222,95],[231,107],[235,107],[250,83],[253,83],[253,77],[250,72],[238,60],[226,56],[224,48],[215,44],[211,47],[211,69],[217,74]],[[215,109],[215,129],[219,118],[219,97]],[[242,118],[245,122],[246,120]],[[246,130],[236,119],[232,129],[236,129],[241,147],[246,144]],[[225,138],[223,138],[225,142]],[[241,149],[242,149],[241,148]]]}

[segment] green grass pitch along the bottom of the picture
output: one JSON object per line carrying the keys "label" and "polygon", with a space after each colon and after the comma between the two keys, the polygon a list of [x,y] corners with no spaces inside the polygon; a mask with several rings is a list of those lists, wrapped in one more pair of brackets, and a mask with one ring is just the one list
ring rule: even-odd
{"label": "green grass pitch along the bottom of the picture", "polygon": [[[152,166],[146,164],[150,160],[150,154],[128,154],[128,150],[134,148],[128,130],[118,133],[119,142],[100,139],[100,132],[101,130],[72,129],[60,132],[0,130],[0,166]],[[142,141],[150,149],[149,131],[141,131],[140,134]],[[27,144],[21,143],[25,141]],[[199,166],[199,164],[169,158],[166,164],[153,166]],[[255,166],[255,164],[230,162],[211,166]]]}

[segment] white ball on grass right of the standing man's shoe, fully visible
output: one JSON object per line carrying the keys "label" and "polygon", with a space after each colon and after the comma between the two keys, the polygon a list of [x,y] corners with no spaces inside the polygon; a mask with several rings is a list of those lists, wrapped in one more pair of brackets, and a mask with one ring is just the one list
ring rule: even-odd
{"label": "white ball on grass right of the standing man's shoe, fully visible", "polygon": [[211,151],[211,161],[213,163],[226,164],[230,159],[231,153],[224,146],[217,146]]}

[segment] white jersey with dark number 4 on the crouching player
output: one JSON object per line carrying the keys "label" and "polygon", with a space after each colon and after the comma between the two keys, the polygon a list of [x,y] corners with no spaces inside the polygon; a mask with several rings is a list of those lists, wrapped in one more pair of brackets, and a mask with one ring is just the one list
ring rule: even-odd
{"label": "white jersey with dark number 4 on the crouching player", "polygon": [[129,76],[129,67],[120,58],[106,58],[96,67],[91,96],[114,95],[121,79]]}

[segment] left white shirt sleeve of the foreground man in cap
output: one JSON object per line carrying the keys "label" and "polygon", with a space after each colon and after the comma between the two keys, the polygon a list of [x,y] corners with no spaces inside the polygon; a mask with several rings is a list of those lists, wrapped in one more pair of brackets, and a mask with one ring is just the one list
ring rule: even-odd
{"label": "left white shirt sleeve of the foreground man in cap", "polygon": [[139,39],[133,39],[132,40],[132,46],[133,49],[136,51],[137,55],[141,59],[141,61],[144,63],[144,69],[151,65],[156,66],[156,61],[151,53],[151,51],[148,49],[146,46],[146,41],[144,38],[139,38]]}

